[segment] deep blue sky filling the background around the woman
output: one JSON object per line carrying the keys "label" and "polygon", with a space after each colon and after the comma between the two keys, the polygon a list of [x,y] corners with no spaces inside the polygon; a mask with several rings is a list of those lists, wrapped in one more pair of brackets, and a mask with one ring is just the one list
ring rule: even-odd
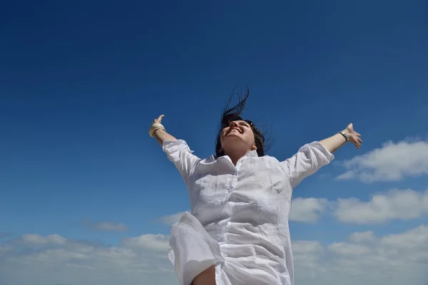
{"label": "deep blue sky filling the background around the woman", "polygon": [[[312,242],[337,254],[337,244],[355,232],[372,231],[377,242],[412,229],[424,234],[427,4],[345,2],[4,4],[0,249],[6,253],[0,250],[0,261],[31,276],[36,254],[53,240],[63,245],[60,237],[98,244],[100,250],[136,250],[138,260],[153,252],[141,252],[141,244],[135,249],[132,241],[163,249],[170,229],[165,221],[173,221],[165,216],[188,210],[189,204],[180,175],[148,136],[148,127],[163,113],[169,133],[185,139],[198,156],[211,155],[221,110],[238,81],[251,92],[245,117],[272,134],[268,155],[290,157],[350,122],[363,135],[361,150],[346,145],[334,163],[296,188],[294,197],[301,199],[293,204],[290,222],[296,247]],[[339,198],[353,199],[343,204]],[[428,234],[423,237],[428,244]],[[19,261],[21,249],[34,259]],[[311,282],[304,279],[310,263],[300,266],[298,250],[296,255],[303,284]],[[175,280],[170,265],[159,260],[151,271],[134,272],[135,280],[118,280],[127,285]],[[63,268],[63,275],[28,279],[10,270],[4,282],[46,284],[55,278],[77,284],[75,271]],[[158,274],[163,271],[167,281]]]}

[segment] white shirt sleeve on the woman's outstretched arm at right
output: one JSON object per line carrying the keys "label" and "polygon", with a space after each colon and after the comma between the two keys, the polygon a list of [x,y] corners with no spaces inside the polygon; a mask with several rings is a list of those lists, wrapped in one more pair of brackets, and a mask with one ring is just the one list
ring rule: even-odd
{"label": "white shirt sleeve on the woman's outstretched arm at right", "polygon": [[300,147],[295,155],[280,163],[290,177],[291,187],[294,188],[334,158],[335,156],[320,142],[311,142]]}

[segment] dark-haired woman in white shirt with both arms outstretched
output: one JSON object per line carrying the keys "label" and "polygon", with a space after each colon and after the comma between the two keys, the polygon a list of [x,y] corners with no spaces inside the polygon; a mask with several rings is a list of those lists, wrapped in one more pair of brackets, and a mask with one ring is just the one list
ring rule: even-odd
{"label": "dark-haired woman in white shirt with both arms outstretched", "polygon": [[360,149],[360,134],[350,124],[287,160],[267,156],[263,134],[240,116],[248,95],[223,111],[215,156],[193,155],[165,131],[163,115],[149,130],[188,187],[191,214],[173,224],[168,251],[181,285],[293,284],[292,190],[346,142]]}

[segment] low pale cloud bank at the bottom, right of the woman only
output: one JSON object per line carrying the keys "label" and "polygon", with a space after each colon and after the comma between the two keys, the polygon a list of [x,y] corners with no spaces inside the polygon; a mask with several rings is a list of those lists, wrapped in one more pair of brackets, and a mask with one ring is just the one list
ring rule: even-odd
{"label": "low pale cloud bank at the bottom, right of the woman only", "polygon": [[295,284],[428,283],[427,226],[385,237],[375,237],[372,232],[356,232],[348,240],[325,248],[312,242],[310,248],[316,250],[298,251],[295,254]]}

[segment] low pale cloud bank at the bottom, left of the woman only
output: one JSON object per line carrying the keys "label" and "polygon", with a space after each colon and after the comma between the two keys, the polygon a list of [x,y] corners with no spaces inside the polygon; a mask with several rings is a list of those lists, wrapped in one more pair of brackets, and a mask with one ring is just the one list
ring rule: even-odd
{"label": "low pale cloud bank at the bottom, left of the woman only", "polygon": [[166,258],[165,239],[148,234],[107,246],[56,234],[26,234],[0,244],[0,284],[178,284]]}

